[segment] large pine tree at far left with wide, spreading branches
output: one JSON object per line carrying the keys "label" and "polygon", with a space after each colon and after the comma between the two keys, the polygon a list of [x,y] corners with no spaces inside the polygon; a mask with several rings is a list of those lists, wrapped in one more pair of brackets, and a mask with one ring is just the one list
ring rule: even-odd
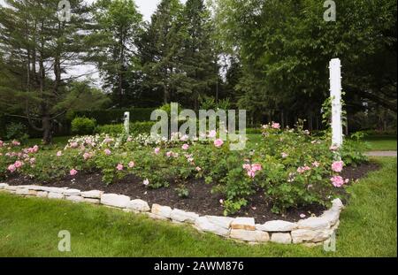
{"label": "large pine tree at far left with wide, spreading branches", "polygon": [[[82,0],[70,3],[70,22],[58,19],[57,1],[7,0],[0,7],[0,52],[4,59],[0,74],[11,79],[0,81],[0,110],[19,111],[13,115],[27,118],[30,126],[43,133],[45,143],[51,141],[56,119],[79,101],[77,96],[65,104],[71,92],[67,84],[74,80],[67,73],[84,59],[82,41],[88,9]],[[94,104],[96,100],[86,107]]]}

